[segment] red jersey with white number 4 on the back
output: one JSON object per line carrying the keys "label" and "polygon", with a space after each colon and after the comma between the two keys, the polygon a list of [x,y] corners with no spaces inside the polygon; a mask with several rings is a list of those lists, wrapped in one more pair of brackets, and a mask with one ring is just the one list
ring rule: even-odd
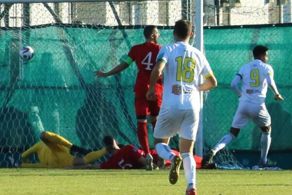
{"label": "red jersey with white number 4 on the back", "polygon": [[[145,94],[149,88],[150,75],[156,63],[156,58],[161,46],[156,43],[145,42],[132,46],[128,53],[133,61],[136,62],[138,72],[134,92]],[[155,85],[156,94],[162,94],[162,76],[159,77]]]}

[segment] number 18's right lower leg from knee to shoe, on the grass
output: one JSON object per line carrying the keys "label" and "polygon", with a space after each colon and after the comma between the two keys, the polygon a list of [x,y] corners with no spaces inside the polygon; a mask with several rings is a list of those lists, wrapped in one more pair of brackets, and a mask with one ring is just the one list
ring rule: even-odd
{"label": "number 18's right lower leg from knee to shoe, on the grass", "polygon": [[187,182],[186,195],[196,195],[196,161],[193,157],[195,141],[181,137],[180,153],[183,158],[184,176]]}

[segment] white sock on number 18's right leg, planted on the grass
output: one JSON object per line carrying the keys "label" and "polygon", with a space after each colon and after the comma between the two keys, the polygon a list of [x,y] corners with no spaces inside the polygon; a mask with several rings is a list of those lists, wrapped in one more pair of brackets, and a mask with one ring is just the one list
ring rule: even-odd
{"label": "white sock on number 18's right leg, planted on the grass", "polygon": [[187,190],[196,189],[196,161],[193,153],[182,153],[181,156],[183,158],[184,176],[189,188]]}

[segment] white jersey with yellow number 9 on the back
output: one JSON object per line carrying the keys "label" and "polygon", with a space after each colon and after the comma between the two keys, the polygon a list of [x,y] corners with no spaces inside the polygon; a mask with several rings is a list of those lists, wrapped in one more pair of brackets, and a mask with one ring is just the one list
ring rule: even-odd
{"label": "white jersey with yellow number 9 on the back", "polygon": [[242,79],[240,100],[264,103],[268,90],[267,75],[273,75],[272,66],[256,59],[242,66],[237,75]]}

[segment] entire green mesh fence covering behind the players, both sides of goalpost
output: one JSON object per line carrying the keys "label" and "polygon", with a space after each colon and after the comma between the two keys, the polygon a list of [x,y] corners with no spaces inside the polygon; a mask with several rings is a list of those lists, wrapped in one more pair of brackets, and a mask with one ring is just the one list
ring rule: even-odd
{"label": "entire green mesh fence covering behind the players, both sides of goalpost", "polygon": [[[128,54],[131,45],[144,42],[144,26],[105,27],[49,24],[28,29],[0,30],[0,149],[23,151],[39,140],[41,131],[55,132],[86,148],[100,148],[105,135],[139,146],[136,136],[133,86],[136,66],[97,81],[94,70],[109,71]],[[173,42],[171,27],[159,28],[159,44]],[[268,91],[272,117],[271,150],[291,150],[292,27],[259,25],[204,29],[206,57],[218,87],[204,102],[203,132],[207,147],[229,132],[238,98],[230,82],[239,67],[253,60],[252,49],[265,44],[268,62],[285,101],[274,101]],[[19,39],[21,38],[21,39]],[[19,42],[35,56],[19,65]],[[149,141],[152,130],[149,125]],[[230,149],[259,150],[261,131],[249,123]],[[172,147],[177,147],[175,137]]]}

